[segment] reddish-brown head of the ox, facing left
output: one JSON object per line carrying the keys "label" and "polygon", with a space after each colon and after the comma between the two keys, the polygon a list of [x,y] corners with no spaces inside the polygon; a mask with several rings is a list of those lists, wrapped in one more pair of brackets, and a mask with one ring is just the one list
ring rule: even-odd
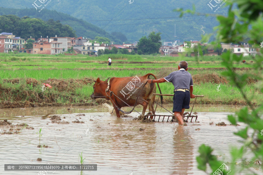
{"label": "reddish-brown head of the ox, facing left", "polygon": [[108,87],[108,80],[101,81],[100,78],[97,78],[97,80],[94,80],[95,84],[93,85],[93,93],[91,94],[91,99],[97,99],[97,98],[105,98],[108,99],[108,97],[102,97],[106,96],[105,89]]}

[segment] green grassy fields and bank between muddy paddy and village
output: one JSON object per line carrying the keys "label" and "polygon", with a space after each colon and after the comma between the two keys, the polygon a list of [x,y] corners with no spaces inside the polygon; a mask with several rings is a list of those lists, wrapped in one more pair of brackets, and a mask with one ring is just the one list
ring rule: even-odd
{"label": "green grassy fields and bank between muddy paddy and village", "polygon": [[[87,57],[85,55],[30,55],[0,54],[0,108],[30,106],[70,106],[96,105],[105,100],[90,99],[92,86],[96,78],[143,76],[148,73],[163,78],[177,70],[180,60],[187,60],[188,71],[193,76],[194,94],[205,95],[198,98],[198,104],[242,104],[240,92],[228,84],[221,75],[224,68],[218,57],[203,57],[196,62],[194,57],[160,57],[150,55],[103,55]],[[34,57],[33,57],[34,56]],[[103,59],[110,56],[113,66],[107,66]],[[190,60],[191,59],[191,60]],[[213,60],[214,59],[214,60]],[[205,60],[205,61],[204,61]],[[252,61],[252,60],[251,60]],[[262,103],[262,94],[255,86],[257,79],[251,64],[236,64],[236,72],[252,74],[244,89],[254,106]],[[42,83],[50,83],[52,89],[41,91]],[[220,85],[220,91],[217,87]],[[172,94],[171,83],[161,83],[163,94]],[[172,97],[164,97],[165,103],[171,103]],[[193,102],[193,100],[191,100]]]}

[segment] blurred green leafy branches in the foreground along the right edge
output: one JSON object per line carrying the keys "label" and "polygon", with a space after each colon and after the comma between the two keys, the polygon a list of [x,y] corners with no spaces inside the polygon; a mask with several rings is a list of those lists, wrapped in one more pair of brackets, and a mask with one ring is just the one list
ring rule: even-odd
{"label": "blurred green leafy branches in the foreground along the right edge", "polygon": [[[233,6],[237,4],[238,9],[233,10]],[[222,72],[222,75],[229,79],[229,84],[238,88],[243,99],[247,102],[247,106],[242,108],[236,115],[229,115],[228,120],[233,125],[237,125],[238,122],[246,125],[245,128],[239,129],[238,132],[234,134],[239,136],[243,143],[238,148],[233,146],[231,148],[230,154],[232,160],[217,160],[217,157],[212,154],[212,148],[206,146],[205,144],[199,147],[199,156],[196,157],[198,162],[198,169],[203,171],[207,170],[207,164],[212,169],[212,172],[207,172],[208,174],[217,174],[219,167],[222,167],[225,163],[229,168],[224,169],[223,174],[231,175],[240,174],[246,170],[248,174],[257,174],[253,169],[248,168],[248,166],[241,165],[237,166],[237,162],[259,162],[258,166],[263,169],[263,120],[262,120],[262,104],[258,108],[252,106],[251,101],[254,97],[248,98],[245,93],[245,88],[247,84],[245,83],[248,78],[255,78],[258,80],[255,89],[251,89],[254,92],[260,92],[261,96],[263,93],[263,82],[262,82],[262,48],[259,48],[259,44],[263,41],[263,1],[262,0],[233,0],[226,2],[228,15],[218,15],[217,20],[219,25],[215,27],[217,31],[216,41],[212,42],[215,47],[214,49],[220,54],[222,53],[221,46],[217,43],[243,43],[248,42],[257,50],[257,55],[254,57],[250,55],[249,57],[253,59],[253,73],[239,72],[237,73],[234,65],[240,64],[244,59],[242,55],[235,55],[231,51],[224,50],[221,55],[222,65],[226,67],[227,71]],[[220,8],[221,10],[221,8]],[[181,10],[181,15],[184,13],[193,13],[191,10],[183,11]],[[210,35],[203,37],[204,40],[208,41]],[[252,70],[253,71],[253,70]],[[250,112],[251,111],[251,112]],[[245,156],[246,153],[252,153],[253,156]]]}

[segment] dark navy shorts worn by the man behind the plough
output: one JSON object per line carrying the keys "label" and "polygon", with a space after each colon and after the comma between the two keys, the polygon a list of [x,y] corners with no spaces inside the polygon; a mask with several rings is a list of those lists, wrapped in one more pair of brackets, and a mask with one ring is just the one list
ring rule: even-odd
{"label": "dark navy shorts worn by the man behind the plough", "polygon": [[182,109],[189,109],[190,106],[190,92],[186,90],[183,91],[175,91],[174,92],[174,108],[173,112],[182,112]]}

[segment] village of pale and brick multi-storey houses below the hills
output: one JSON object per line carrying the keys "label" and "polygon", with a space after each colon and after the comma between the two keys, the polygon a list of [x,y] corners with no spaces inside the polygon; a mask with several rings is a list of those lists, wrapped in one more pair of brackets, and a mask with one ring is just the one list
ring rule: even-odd
{"label": "village of pale and brick multi-storey houses below the hills", "polygon": [[[33,48],[26,49],[24,45],[27,43],[28,39],[34,40]],[[172,56],[178,57],[180,54],[187,55],[189,52],[191,56],[195,56],[193,48],[195,46],[206,46],[207,50],[203,53],[203,55],[219,55],[218,52],[214,50],[214,46],[208,43],[200,43],[200,41],[190,41],[184,42],[181,45],[171,45],[172,42],[164,42],[164,46],[159,48],[159,53],[163,56]],[[191,43],[191,46],[188,47],[187,43]],[[56,55],[56,54],[63,54],[66,53],[69,49],[73,49],[74,54],[83,54],[83,55],[93,55],[98,56],[98,51],[105,49],[112,50],[112,48],[117,49],[127,49],[129,53],[134,51],[137,53],[138,48],[137,41],[131,44],[105,44],[105,43],[98,43],[94,41],[94,43],[89,42],[88,38],[78,37],[78,38],[71,38],[71,37],[48,37],[43,38],[20,38],[13,33],[6,33],[2,32],[0,34],[0,53],[8,53],[17,51],[18,53],[29,53],[29,54],[47,54],[47,55]],[[258,52],[257,48],[254,46],[250,46],[248,43],[242,43],[241,45],[235,45],[232,43],[220,43],[222,51],[230,50],[236,55],[243,54],[243,56],[255,56]],[[188,48],[188,49],[186,49]],[[190,55],[188,55],[190,56]]]}

